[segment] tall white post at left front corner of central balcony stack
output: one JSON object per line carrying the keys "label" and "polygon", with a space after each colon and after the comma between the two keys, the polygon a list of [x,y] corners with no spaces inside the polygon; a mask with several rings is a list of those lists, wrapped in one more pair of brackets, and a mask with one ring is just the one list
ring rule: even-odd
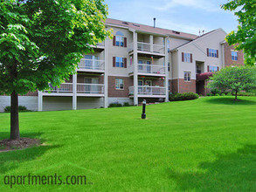
{"label": "tall white post at left front corner of central balcony stack", "polygon": [[138,105],[138,41],[137,32],[134,31],[134,105]]}

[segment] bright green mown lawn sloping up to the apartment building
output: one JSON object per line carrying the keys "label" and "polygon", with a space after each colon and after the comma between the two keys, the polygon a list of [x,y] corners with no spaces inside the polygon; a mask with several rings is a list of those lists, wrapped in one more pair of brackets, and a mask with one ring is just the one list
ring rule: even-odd
{"label": "bright green mown lawn sloping up to the apartment building", "polygon": [[[208,97],[147,106],[20,113],[43,146],[0,153],[4,175],[86,175],[86,186],[12,191],[256,191],[256,98]],[[0,114],[0,140],[10,114]]]}

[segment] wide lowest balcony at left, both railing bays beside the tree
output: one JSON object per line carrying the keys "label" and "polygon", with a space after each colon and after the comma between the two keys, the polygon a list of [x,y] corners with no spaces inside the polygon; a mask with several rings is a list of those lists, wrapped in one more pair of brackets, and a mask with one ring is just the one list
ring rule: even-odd
{"label": "wide lowest balcony at left, both railing bays beside the tree", "polygon": [[[59,87],[49,84],[49,90],[45,90],[44,96],[73,96],[73,83],[63,83]],[[103,84],[77,84],[77,96],[104,97]]]}

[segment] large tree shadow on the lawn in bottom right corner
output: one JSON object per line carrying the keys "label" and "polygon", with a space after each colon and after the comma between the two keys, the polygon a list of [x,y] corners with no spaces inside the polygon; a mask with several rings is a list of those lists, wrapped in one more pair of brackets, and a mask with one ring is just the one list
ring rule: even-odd
{"label": "large tree shadow on the lawn in bottom right corner", "polygon": [[256,191],[256,145],[246,145],[232,154],[217,154],[217,160],[201,163],[200,172],[170,172],[170,179],[184,191]]}

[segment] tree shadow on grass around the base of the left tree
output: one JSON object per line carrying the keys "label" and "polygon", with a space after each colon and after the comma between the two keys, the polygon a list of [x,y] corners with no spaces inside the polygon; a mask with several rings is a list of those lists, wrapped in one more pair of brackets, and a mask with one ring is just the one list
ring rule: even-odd
{"label": "tree shadow on grass around the base of the left tree", "polygon": [[[0,132],[1,137],[6,135],[9,136],[10,133],[8,132]],[[21,137],[29,137],[29,138],[35,138],[38,139],[39,136],[42,133],[27,133],[27,134],[21,134]],[[3,138],[3,139],[4,139]],[[44,143],[45,140],[40,139],[41,143]],[[13,170],[15,168],[18,168],[20,163],[23,163],[24,161],[32,161],[37,159],[38,157],[45,154],[46,151],[51,150],[53,148],[62,147],[61,145],[53,145],[53,146],[47,146],[47,145],[41,145],[38,147],[29,147],[19,150],[13,150],[8,152],[2,152],[0,153],[0,175]]]}

